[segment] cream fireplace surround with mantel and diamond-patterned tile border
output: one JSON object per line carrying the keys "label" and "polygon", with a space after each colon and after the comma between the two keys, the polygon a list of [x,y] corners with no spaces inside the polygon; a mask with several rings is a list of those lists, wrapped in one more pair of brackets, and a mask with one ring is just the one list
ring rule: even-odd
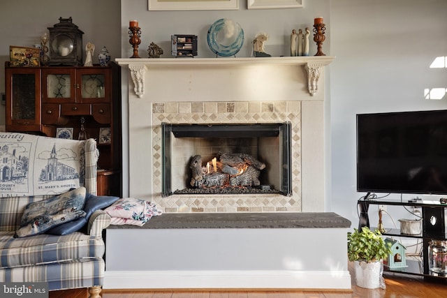
{"label": "cream fireplace surround with mantel and diamond-patterned tile border", "polygon": [[[324,211],[324,66],[335,57],[117,59],[129,68],[129,195],[166,213]],[[161,123],[291,122],[292,195],[161,196]]]}

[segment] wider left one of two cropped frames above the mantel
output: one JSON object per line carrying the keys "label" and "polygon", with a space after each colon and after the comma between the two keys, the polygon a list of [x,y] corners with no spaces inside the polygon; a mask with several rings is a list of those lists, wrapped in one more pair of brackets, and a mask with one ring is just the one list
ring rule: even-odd
{"label": "wider left one of two cropped frames above the mantel", "polygon": [[239,0],[147,0],[149,10],[232,10]]}

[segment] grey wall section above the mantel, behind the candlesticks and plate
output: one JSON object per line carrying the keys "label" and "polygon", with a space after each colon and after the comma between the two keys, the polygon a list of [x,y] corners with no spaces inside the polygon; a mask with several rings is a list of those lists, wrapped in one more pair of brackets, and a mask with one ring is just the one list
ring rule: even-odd
{"label": "grey wall section above the mantel, behind the candlesticks and plate", "polygon": [[[198,56],[200,58],[216,57],[207,45],[207,31],[221,18],[228,18],[239,23],[244,30],[244,45],[236,57],[250,57],[251,40],[257,33],[265,32],[270,39],[265,43],[265,52],[272,56],[290,55],[290,35],[292,29],[312,31],[314,17],[323,17],[329,22],[329,1],[305,1],[305,8],[247,10],[247,0],[238,0],[238,10],[187,10],[187,11],[148,11],[147,0],[122,0],[122,54],[131,57],[132,47],[129,43],[129,20],[136,19],[141,28],[139,56],[147,58],[147,47],[154,42],[163,48],[161,57],[170,54],[170,36],[172,34],[196,34],[198,36]],[[330,28],[326,35],[330,34]],[[311,38],[313,33],[311,33]],[[312,39],[311,39],[312,41]],[[323,43],[323,52],[329,52],[330,38]],[[316,53],[316,45],[311,42],[310,54]]]}

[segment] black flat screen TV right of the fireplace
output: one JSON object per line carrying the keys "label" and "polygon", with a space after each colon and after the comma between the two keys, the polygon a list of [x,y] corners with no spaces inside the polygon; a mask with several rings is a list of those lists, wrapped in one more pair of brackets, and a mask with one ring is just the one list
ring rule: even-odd
{"label": "black flat screen TV right of the fireplace", "polygon": [[447,110],[357,114],[357,191],[447,194]]}

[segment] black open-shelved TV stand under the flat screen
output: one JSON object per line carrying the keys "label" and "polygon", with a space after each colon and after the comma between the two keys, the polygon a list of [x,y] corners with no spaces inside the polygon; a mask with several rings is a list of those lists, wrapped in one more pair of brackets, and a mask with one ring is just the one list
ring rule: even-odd
{"label": "black open-shelved TV stand under the flat screen", "polygon": [[[367,198],[367,197],[365,197]],[[407,207],[420,207],[422,209],[423,226],[422,233],[418,235],[401,234],[400,229],[386,229],[383,233],[384,236],[393,237],[408,237],[423,240],[423,253],[422,260],[406,260],[406,268],[388,269],[384,268],[384,273],[395,274],[412,274],[423,276],[426,281],[435,281],[441,283],[447,283],[447,275],[437,274],[430,271],[428,260],[428,246],[432,240],[446,240],[446,210],[447,204],[441,204],[436,201],[423,201],[423,200],[411,200],[410,202],[404,200],[372,200],[372,199],[360,199],[358,200],[358,207],[360,209],[360,219],[358,223],[359,229],[369,226],[369,205],[395,205],[395,206],[407,206]],[[433,218],[435,221],[433,221]]]}

